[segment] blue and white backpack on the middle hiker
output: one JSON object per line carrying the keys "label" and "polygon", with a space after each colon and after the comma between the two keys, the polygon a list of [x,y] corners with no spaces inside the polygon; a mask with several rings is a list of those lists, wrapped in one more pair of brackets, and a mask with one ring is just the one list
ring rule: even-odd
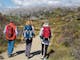
{"label": "blue and white backpack on the middle hiker", "polygon": [[32,31],[32,26],[31,25],[26,25],[24,27],[24,38],[32,38],[33,36],[33,31]]}

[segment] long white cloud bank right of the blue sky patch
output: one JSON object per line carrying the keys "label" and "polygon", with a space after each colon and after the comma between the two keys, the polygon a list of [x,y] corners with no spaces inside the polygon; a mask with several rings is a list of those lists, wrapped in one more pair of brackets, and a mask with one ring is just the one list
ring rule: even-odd
{"label": "long white cloud bank right of the blue sky patch", "polygon": [[12,0],[18,6],[30,5],[60,5],[60,6],[77,6],[80,0]]}

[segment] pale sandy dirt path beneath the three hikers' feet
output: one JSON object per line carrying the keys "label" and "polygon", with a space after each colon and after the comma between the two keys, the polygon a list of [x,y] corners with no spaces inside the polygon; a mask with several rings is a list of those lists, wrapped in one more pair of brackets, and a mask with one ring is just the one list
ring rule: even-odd
{"label": "pale sandy dirt path beneath the three hikers' feet", "polygon": [[[35,37],[33,39],[32,43],[32,48],[31,48],[31,53],[34,55],[31,59],[29,60],[41,60],[41,55],[40,55],[40,50],[41,50],[41,42],[39,37]],[[17,52],[17,54],[16,54]],[[14,49],[14,57],[8,58],[7,52],[3,53],[3,60],[27,60],[27,57],[25,56],[25,43],[24,44],[19,44],[15,49]]]}

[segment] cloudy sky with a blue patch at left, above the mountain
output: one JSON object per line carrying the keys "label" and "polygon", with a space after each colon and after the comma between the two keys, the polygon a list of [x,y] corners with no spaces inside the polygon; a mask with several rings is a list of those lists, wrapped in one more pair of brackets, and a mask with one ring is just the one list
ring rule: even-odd
{"label": "cloudy sky with a blue patch at left, above the mountain", "polygon": [[80,6],[80,0],[0,0],[0,8],[19,8],[38,5]]}

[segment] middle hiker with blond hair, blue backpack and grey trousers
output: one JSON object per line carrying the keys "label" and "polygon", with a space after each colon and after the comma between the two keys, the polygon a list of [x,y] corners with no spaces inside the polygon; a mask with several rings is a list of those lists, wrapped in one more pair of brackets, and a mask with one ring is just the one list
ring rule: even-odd
{"label": "middle hiker with blond hair, blue backpack and grey trousers", "polygon": [[26,41],[25,54],[28,58],[31,58],[30,50],[31,50],[33,37],[35,36],[34,27],[32,26],[31,20],[26,22],[26,25],[24,26],[23,36],[24,36],[24,40]]}

